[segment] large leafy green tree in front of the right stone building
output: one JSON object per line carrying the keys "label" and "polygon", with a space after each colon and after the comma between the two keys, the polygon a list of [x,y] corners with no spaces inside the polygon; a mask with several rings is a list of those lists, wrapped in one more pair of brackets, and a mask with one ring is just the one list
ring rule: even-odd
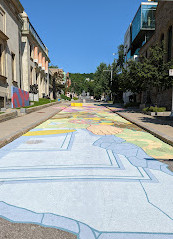
{"label": "large leafy green tree in front of the right stone building", "polygon": [[159,91],[171,87],[173,80],[169,77],[172,62],[165,62],[165,50],[158,44],[150,47],[149,57],[140,57],[138,62],[130,61],[127,70],[123,70],[121,83],[124,91],[141,93],[147,89],[155,92],[155,105]]}

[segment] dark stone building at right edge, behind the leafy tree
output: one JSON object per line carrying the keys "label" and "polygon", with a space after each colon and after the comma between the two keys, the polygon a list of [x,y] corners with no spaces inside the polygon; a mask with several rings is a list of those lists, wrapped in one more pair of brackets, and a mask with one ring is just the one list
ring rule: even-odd
{"label": "dark stone building at right edge, behind the leafy tree", "polygon": [[[159,2],[156,10],[156,29],[152,38],[140,49],[140,55],[148,57],[149,48],[155,43],[163,44],[166,50],[165,61],[173,59],[173,1]],[[156,101],[154,89],[150,92],[143,92],[143,102],[150,98],[152,104]],[[157,96],[158,106],[164,106],[168,110],[172,105],[172,89],[160,91]]]}

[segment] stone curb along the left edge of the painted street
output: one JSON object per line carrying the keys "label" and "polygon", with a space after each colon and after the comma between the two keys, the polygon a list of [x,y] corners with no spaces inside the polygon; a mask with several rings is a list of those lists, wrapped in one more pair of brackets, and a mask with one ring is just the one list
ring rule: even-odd
{"label": "stone curb along the left edge of the painted street", "polygon": [[[67,105],[65,108],[67,108],[69,105]],[[45,122],[46,120],[52,118],[54,115],[56,115],[57,113],[61,112],[62,110],[58,109],[55,112],[49,114],[48,116],[44,117],[41,120],[38,120],[32,124],[30,124],[29,126],[22,128],[21,130],[16,131],[15,133],[4,137],[0,140],[0,148],[4,147],[5,145],[11,143],[12,141],[14,141],[15,139],[19,138],[20,136],[22,136],[23,134],[27,133],[29,130],[37,127],[38,125],[42,124],[43,122]]]}

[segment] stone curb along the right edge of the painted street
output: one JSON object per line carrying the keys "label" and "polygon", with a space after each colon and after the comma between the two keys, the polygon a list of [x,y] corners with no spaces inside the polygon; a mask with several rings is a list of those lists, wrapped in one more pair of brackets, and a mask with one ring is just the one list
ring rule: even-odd
{"label": "stone curb along the right edge of the painted street", "polygon": [[[109,107],[106,107],[108,108],[109,110],[111,110]],[[136,120],[133,120],[131,117],[127,117],[127,116],[124,116],[123,113],[120,113],[120,112],[115,112],[113,110],[111,110],[113,113],[116,113],[117,115],[121,116],[122,118],[128,120],[129,122],[137,125],[138,127],[144,129],[145,131],[149,132],[150,134],[152,134],[153,136],[155,136],[156,138],[162,140],[163,142],[165,142],[166,144],[169,144],[171,146],[173,146],[173,138],[172,137],[169,137],[165,134],[162,134],[160,133],[159,131],[157,130],[154,130],[148,126],[146,126],[145,124],[143,123],[140,123],[140,122],[137,122]]]}

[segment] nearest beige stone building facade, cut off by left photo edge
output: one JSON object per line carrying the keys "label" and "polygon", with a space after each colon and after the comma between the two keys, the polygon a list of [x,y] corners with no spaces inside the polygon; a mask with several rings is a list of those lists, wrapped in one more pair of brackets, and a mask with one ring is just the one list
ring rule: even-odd
{"label": "nearest beige stone building facade, cut off by left photo edge", "polygon": [[18,0],[0,0],[0,108],[10,106],[11,86],[22,87],[23,10]]}

